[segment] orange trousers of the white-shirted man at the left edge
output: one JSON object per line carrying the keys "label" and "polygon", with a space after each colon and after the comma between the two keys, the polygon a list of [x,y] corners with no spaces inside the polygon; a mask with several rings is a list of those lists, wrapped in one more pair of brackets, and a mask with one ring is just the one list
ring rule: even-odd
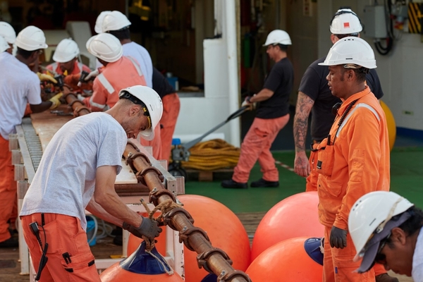
{"label": "orange trousers of the white-shirted man at the left edge", "polygon": [[9,142],[0,135],[0,242],[11,238],[7,221],[11,218],[13,207],[17,203],[15,166],[12,165],[12,152],[9,151]]}

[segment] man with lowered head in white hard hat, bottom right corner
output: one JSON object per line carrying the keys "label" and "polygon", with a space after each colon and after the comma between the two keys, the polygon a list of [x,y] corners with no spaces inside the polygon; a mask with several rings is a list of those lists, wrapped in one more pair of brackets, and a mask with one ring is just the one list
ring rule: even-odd
{"label": "man with lowered head in white hard hat, bottom right corner", "polygon": [[358,273],[383,264],[386,270],[423,281],[423,211],[395,192],[369,192],[355,202],[348,218]]}

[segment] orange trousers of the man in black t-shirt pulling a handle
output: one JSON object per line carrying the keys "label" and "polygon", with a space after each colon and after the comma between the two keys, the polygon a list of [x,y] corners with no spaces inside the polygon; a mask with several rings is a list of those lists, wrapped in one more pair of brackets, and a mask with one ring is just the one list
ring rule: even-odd
{"label": "orange trousers of the man in black t-shirt pulling a handle", "polygon": [[275,159],[270,152],[271,143],[276,135],[288,123],[289,114],[280,118],[255,118],[241,144],[241,154],[238,164],[233,170],[232,179],[238,183],[247,183],[250,171],[259,161],[263,179],[278,181],[279,172]]}

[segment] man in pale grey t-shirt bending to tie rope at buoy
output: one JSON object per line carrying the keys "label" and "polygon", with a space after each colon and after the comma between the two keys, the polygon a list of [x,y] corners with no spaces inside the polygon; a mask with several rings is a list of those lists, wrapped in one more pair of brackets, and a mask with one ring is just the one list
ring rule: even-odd
{"label": "man in pale grey t-shirt bending to tie rope at buoy", "polygon": [[73,118],[57,131],[23,199],[23,235],[43,281],[100,281],[85,209],[140,238],[154,240],[161,232],[157,221],[127,207],[114,188],[128,138],[154,135],[161,99],[141,85],[121,90],[119,98],[108,111]]}

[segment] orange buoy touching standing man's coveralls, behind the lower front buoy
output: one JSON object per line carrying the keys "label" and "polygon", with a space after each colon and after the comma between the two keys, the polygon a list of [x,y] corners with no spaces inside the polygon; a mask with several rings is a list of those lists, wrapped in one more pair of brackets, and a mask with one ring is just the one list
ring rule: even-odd
{"label": "orange buoy touching standing man's coveralls, behind the lower front buoy", "polygon": [[275,204],[269,209],[252,240],[251,259],[283,240],[308,236],[323,237],[324,226],[319,223],[317,192],[301,192]]}

